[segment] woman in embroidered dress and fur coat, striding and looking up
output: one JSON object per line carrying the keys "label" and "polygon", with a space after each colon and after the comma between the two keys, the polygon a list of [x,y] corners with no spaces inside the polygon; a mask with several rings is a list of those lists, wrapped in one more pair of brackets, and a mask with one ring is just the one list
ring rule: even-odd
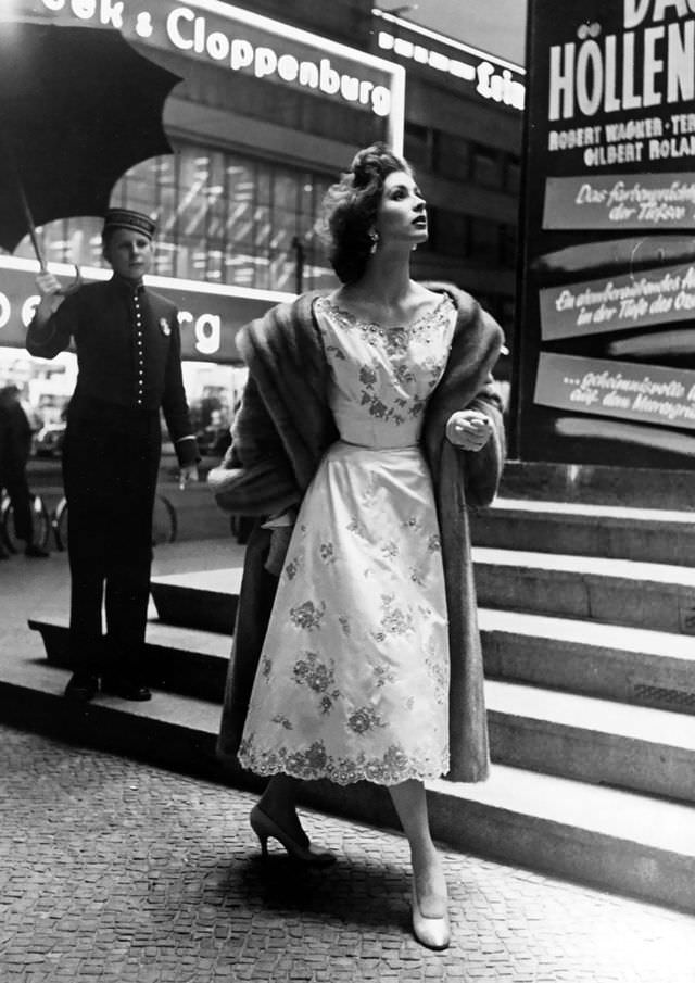
{"label": "woman in embroidered dress and fur coat, striding and looking up", "polygon": [[502,470],[503,336],[469,294],[410,278],[426,204],[383,144],[327,209],[342,286],[238,338],[249,381],[211,484],[223,507],[270,519],[247,547],[218,751],[270,777],[250,817],[264,852],[273,836],[307,864],[333,857],[302,829],[298,780],[387,786],[414,933],[445,948],[424,781],[488,774],[466,508]]}

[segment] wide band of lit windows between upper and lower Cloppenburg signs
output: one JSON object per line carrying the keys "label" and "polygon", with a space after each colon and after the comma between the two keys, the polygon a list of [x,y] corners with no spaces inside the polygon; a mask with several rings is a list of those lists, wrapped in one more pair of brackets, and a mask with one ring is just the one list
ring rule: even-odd
{"label": "wide band of lit windows between upper and lower Cloppenburg signs", "polygon": [[[131,168],[112,204],[157,219],[160,276],[307,290],[333,279],[314,231],[330,184],[324,174],[182,143]],[[48,257],[103,266],[101,225],[50,223],[41,230]]]}

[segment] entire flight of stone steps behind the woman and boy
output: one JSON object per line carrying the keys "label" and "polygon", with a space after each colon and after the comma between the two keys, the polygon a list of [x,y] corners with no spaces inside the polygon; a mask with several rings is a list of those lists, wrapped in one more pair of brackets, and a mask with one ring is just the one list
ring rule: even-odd
{"label": "entire flight of stone steps behind the woman and boy", "polygon": [[[434,833],[460,849],[695,911],[688,516],[680,500],[671,514],[649,514],[520,499],[472,518],[492,776],[428,783]],[[568,552],[553,552],[560,547]],[[155,698],[99,695],[80,717],[89,740],[111,734],[128,753],[144,748],[168,767],[253,786],[214,757],[240,577],[235,556],[226,569],[153,578]],[[66,623],[33,627],[54,665],[25,666],[33,676],[15,683],[15,696],[25,707],[48,701],[75,726],[60,698]],[[0,700],[11,701],[11,689],[3,682]],[[304,795],[316,808],[393,822],[388,795],[374,786],[318,783]]]}

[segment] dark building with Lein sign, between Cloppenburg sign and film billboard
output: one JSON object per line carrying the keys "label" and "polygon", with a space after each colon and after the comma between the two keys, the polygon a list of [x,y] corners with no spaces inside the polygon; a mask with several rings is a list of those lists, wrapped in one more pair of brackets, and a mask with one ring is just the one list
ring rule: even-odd
{"label": "dark building with Lein sign, between Cloppenburg sign and film billboard", "polygon": [[475,294],[511,339],[525,73],[376,11],[372,50],[406,70],[406,157],[428,199],[418,277]]}

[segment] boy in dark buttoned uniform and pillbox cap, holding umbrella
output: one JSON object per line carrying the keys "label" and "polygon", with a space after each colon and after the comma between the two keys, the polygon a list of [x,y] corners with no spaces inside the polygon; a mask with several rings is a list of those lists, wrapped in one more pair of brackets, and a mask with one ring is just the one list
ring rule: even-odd
{"label": "boy in dark buttoned uniform and pillbox cap, holding umbrella", "polygon": [[110,210],[102,244],[111,279],[62,297],[55,277],[39,274],[41,300],[27,332],[31,355],[52,358],[71,339],[77,352],[63,481],[74,667],[65,695],[80,702],[91,700],[100,679],[104,691],[127,700],[151,696],[143,650],[160,411],[176,449],[181,483],[197,477],[198,445],[181,376],[177,311],[142,282],[152,264],[154,229],[147,215]]}

